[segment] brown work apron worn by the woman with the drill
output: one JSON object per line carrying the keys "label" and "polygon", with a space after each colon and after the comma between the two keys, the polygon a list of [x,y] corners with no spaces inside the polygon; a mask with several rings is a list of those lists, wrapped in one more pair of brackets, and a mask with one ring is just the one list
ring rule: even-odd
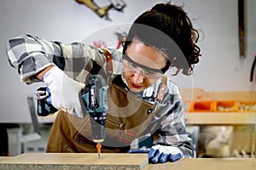
{"label": "brown work apron worn by the woman with the drill", "polygon": [[[162,89],[162,88],[160,88]],[[102,152],[127,152],[133,139],[154,133],[160,120],[152,121],[158,110],[124,88],[111,84],[108,88],[106,139]],[[47,152],[96,152],[90,139],[90,119],[59,111],[52,126]]]}

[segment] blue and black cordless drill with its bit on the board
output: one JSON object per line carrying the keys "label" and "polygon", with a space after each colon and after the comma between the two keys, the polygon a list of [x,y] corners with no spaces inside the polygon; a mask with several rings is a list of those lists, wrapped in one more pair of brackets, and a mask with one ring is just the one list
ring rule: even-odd
{"label": "blue and black cordless drill with its bit on the board", "polygon": [[[57,109],[51,105],[49,88],[38,88],[38,116],[49,116]],[[101,75],[93,75],[85,82],[82,90],[87,114],[90,115],[91,138],[96,143],[98,158],[100,158],[102,142],[106,136],[106,116],[108,111],[108,86]]]}

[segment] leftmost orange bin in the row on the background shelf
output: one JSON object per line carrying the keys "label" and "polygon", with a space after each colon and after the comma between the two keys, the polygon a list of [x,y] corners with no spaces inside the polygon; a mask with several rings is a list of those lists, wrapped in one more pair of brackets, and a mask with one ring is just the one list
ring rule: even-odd
{"label": "leftmost orange bin in the row on the background shelf", "polygon": [[213,102],[212,101],[195,101],[191,105],[191,111],[193,112],[212,112]]}

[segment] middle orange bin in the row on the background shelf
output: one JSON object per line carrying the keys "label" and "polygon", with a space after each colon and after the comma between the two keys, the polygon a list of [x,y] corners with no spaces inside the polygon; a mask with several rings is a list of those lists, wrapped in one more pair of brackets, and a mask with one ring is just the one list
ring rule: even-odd
{"label": "middle orange bin in the row on the background shelf", "polygon": [[232,112],[237,110],[238,107],[236,101],[216,101],[214,106],[214,111],[218,112]]}

